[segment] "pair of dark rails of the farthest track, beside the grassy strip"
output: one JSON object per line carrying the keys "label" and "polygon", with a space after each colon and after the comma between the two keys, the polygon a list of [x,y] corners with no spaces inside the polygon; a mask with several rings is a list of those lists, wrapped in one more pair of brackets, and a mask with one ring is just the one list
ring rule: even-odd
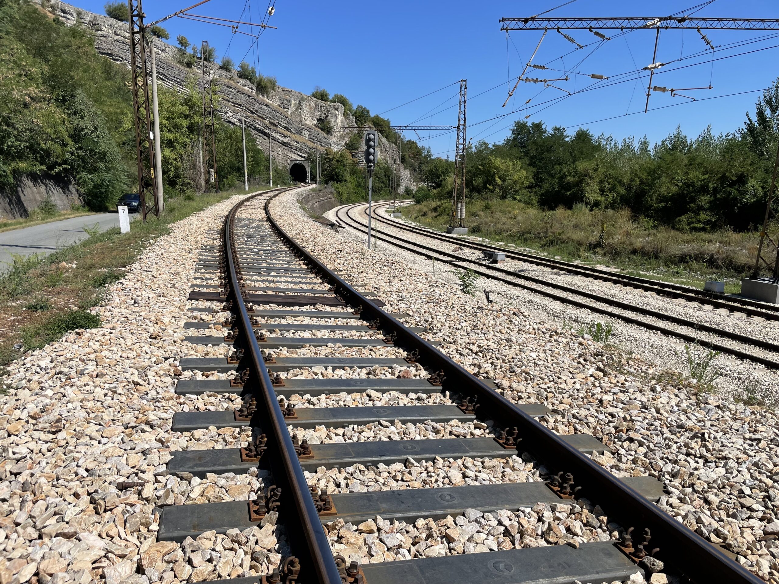
{"label": "pair of dark rails of the farthest track, beside the grassy strip", "polygon": [[[359,204],[360,203],[357,203],[357,205]],[[390,203],[380,202],[374,205],[374,209],[379,209],[379,207],[388,205],[390,205]],[[353,205],[352,207],[354,206],[356,205]],[[605,282],[629,285],[640,290],[647,290],[649,292],[654,292],[655,294],[661,294],[671,298],[684,298],[685,300],[689,301],[706,302],[706,304],[710,304],[711,306],[715,306],[717,308],[725,308],[728,311],[741,311],[746,315],[760,316],[760,318],[766,318],[767,320],[779,320],[779,306],[761,304],[759,302],[747,300],[746,298],[727,298],[722,300],[717,298],[718,294],[714,292],[695,290],[680,284],[665,282],[650,283],[654,282],[654,280],[648,280],[647,278],[640,278],[637,276],[628,276],[627,274],[609,272],[605,269],[582,266],[580,264],[566,262],[564,260],[544,258],[540,255],[516,252],[509,248],[502,248],[499,245],[491,245],[481,242],[477,243],[475,241],[468,241],[459,237],[446,236],[434,230],[428,230],[425,227],[415,228],[404,225],[398,221],[389,220],[386,217],[379,216],[376,211],[374,212],[373,218],[381,223],[386,223],[387,225],[396,227],[397,229],[424,235],[425,237],[430,237],[431,239],[438,239],[439,241],[446,241],[447,243],[454,243],[456,245],[462,245],[467,248],[478,249],[479,251],[505,253],[507,259],[515,259],[517,262],[531,263],[536,266],[544,266],[549,269],[569,272],[578,276],[585,276],[588,278],[594,278],[596,280],[604,280]],[[629,282],[629,284],[626,284],[626,282]],[[752,308],[755,305],[759,308]]]}

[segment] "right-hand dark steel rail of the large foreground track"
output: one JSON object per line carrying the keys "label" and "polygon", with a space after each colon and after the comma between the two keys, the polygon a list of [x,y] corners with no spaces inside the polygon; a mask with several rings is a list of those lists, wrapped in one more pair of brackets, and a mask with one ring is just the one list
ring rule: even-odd
{"label": "right-hand dark steel rail of the large foreground track", "polygon": [[435,349],[425,339],[407,329],[342,280],[333,270],[294,241],[273,219],[270,214],[270,202],[275,196],[273,195],[265,203],[270,226],[304,262],[312,266],[319,276],[330,282],[333,290],[337,290],[352,306],[359,307],[362,318],[379,321],[380,328],[395,334],[397,346],[418,355],[418,360],[433,371],[443,371],[444,387],[478,399],[480,408],[488,412],[498,424],[504,427],[517,427],[523,450],[527,450],[536,459],[543,461],[552,473],[557,471],[573,473],[575,484],[582,487],[581,495],[607,509],[611,518],[620,522],[622,526],[634,527],[636,533],[640,533],[643,529],[650,529],[652,543],[649,547],[660,547],[657,551],[658,559],[700,584],[704,582],[763,583],[763,580],[732,561],[713,544],[683,526],[681,522],[624,484],[608,470],[594,463],[590,457],[563,442],[558,434],[524,413],[516,403],[510,402],[481,379],[471,375],[460,364]]}

